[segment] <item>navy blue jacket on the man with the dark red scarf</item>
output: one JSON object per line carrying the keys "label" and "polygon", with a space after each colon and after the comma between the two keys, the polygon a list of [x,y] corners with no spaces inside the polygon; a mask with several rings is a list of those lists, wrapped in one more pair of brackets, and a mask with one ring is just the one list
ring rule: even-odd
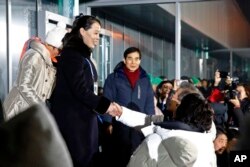
{"label": "navy blue jacket on the man with the dark red scarf", "polygon": [[[135,111],[148,115],[155,114],[154,93],[146,71],[139,67],[140,76],[133,89],[124,73],[124,66],[123,62],[118,63],[114,72],[107,77],[104,84],[104,95],[111,101]],[[111,118],[107,121],[110,122]]]}

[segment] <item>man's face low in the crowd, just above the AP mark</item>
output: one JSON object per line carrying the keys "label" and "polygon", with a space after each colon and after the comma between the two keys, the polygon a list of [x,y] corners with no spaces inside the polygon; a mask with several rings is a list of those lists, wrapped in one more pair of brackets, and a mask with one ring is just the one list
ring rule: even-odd
{"label": "man's face low in the crowd, just above the AP mark", "polygon": [[214,140],[214,150],[217,154],[222,154],[227,147],[227,136],[225,134],[219,134]]}

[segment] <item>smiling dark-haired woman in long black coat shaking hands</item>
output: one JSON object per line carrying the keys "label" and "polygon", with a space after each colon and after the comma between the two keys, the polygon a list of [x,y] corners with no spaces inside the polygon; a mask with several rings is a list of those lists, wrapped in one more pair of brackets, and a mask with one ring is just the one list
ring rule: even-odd
{"label": "smiling dark-haired woman in long black coat shaking hands", "polygon": [[[68,146],[74,167],[93,166],[98,150],[97,113],[117,110],[105,97],[94,93],[97,72],[90,56],[98,44],[101,26],[93,16],[78,16],[63,39],[57,65],[51,112]],[[114,116],[114,115],[113,115]]]}

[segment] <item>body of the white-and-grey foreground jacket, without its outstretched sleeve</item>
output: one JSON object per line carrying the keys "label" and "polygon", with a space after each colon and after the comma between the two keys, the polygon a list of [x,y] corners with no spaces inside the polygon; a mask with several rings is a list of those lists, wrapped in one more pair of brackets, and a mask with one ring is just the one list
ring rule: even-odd
{"label": "body of the white-and-grey foreground jacket, without its outstretched sleeve", "polygon": [[216,167],[212,135],[155,126],[131,156],[128,167],[163,166]]}

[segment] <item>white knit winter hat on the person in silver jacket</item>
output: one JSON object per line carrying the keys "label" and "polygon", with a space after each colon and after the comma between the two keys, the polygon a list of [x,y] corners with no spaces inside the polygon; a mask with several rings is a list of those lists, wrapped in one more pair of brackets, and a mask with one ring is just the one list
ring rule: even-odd
{"label": "white knit winter hat on the person in silver jacket", "polygon": [[64,35],[67,33],[67,30],[65,28],[66,28],[65,23],[58,22],[57,26],[47,33],[45,42],[56,48],[61,48],[62,39]]}

